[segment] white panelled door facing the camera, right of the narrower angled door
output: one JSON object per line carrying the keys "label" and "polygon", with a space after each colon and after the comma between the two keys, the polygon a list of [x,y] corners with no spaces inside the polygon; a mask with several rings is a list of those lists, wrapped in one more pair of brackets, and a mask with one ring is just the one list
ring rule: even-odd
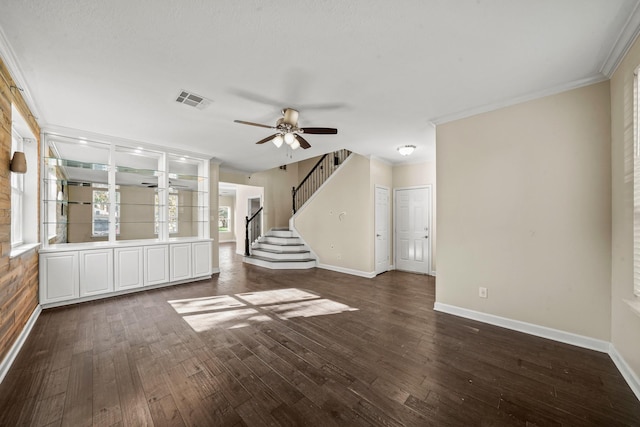
{"label": "white panelled door facing the camera, right of the narrower angled door", "polygon": [[398,270],[431,272],[431,188],[395,192],[395,266]]}

